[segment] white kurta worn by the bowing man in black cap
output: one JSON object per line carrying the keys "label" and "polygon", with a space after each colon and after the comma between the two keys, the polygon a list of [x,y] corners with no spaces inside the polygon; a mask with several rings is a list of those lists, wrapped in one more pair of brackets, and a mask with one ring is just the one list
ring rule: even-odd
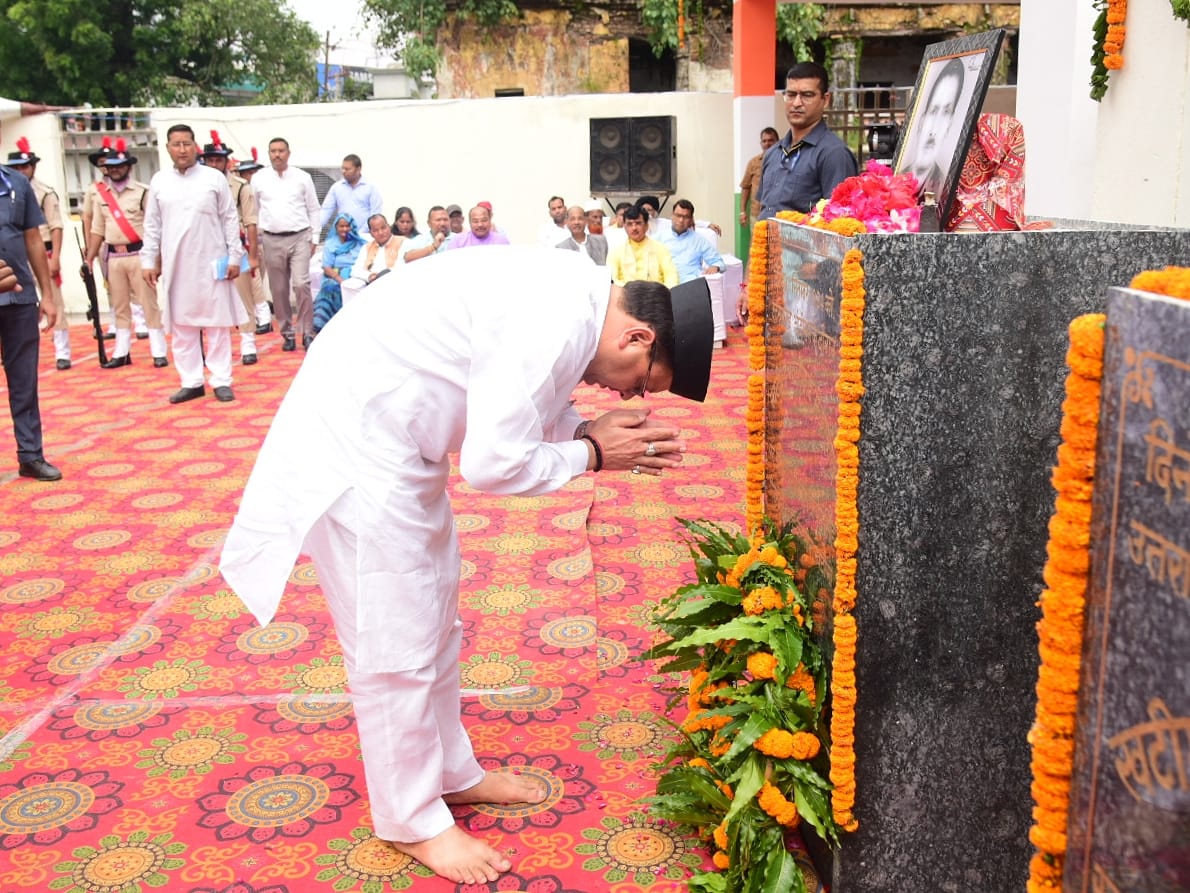
{"label": "white kurta worn by the bowing man in black cap", "polygon": [[453,623],[450,454],[481,491],[532,495],[582,474],[571,392],[595,355],[607,271],[497,246],[397,267],[345,306],[294,377],[220,569],[262,623],[311,527],[356,506],[359,669],[424,667]]}

